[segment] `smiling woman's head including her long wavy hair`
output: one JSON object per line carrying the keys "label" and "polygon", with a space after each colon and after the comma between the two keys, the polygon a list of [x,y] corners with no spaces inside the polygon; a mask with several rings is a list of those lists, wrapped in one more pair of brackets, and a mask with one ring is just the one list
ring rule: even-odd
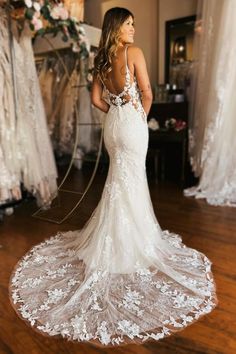
{"label": "smiling woman's head including her long wavy hair", "polygon": [[111,71],[111,61],[119,46],[134,41],[134,16],[122,7],[114,7],[105,13],[102,34],[95,58],[95,75],[101,79]]}

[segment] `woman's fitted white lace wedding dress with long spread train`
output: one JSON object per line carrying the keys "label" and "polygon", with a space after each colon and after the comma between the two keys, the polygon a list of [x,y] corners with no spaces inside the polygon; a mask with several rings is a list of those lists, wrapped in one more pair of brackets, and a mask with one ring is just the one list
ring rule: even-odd
{"label": "woman's fitted white lace wedding dress with long spread train", "polygon": [[97,345],[159,340],[217,304],[211,262],[162,231],[145,172],[148,126],[126,61],[123,92],[105,88],[110,168],[85,227],[33,247],[10,282],[17,313],[41,333]]}

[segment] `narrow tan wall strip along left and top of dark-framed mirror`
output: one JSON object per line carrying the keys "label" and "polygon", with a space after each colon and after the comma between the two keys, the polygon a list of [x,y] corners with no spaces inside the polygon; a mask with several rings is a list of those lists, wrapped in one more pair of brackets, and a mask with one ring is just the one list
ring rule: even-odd
{"label": "narrow tan wall strip along left and top of dark-framed mirror", "polygon": [[197,0],[159,0],[159,69],[158,82],[165,80],[165,22],[196,14]]}

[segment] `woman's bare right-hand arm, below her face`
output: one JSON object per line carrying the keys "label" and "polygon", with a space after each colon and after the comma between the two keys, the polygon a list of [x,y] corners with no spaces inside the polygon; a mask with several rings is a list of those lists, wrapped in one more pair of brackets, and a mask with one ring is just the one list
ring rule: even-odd
{"label": "woman's bare right-hand arm, below her face", "polygon": [[141,92],[143,109],[148,114],[152,104],[152,88],[148,77],[146,61],[140,48],[131,46],[128,51],[129,61],[133,63],[138,87]]}

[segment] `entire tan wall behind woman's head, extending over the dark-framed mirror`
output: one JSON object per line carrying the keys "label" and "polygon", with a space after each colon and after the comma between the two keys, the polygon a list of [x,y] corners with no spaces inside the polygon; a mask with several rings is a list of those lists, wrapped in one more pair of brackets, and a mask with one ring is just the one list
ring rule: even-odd
{"label": "entire tan wall behind woman's head, extending over the dark-framed mirror", "polygon": [[145,54],[151,83],[163,83],[165,21],[196,14],[197,0],[85,0],[85,21],[101,28],[104,13],[114,6],[134,13],[135,44]]}

